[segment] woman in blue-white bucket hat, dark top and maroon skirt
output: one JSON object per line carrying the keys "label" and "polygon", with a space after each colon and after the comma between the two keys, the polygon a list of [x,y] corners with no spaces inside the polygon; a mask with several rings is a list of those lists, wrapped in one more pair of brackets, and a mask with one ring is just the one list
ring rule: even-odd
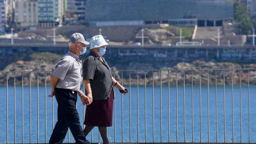
{"label": "woman in blue-white bucket hat, dark top and maroon skirt", "polygon": [[86,115],[83,130],[85,136],[97,126],[104,144],[108,144],[106,127],[112,126],[113,114],[113,86],[116,86],[121,93],[127,93],[118,81],[111,74],[111,69],[102,57],[109,45],[102,35],[96,35],[90,40],[90,53],[83,63],[83,82],[87,96],[93,102],[86,107]]}

